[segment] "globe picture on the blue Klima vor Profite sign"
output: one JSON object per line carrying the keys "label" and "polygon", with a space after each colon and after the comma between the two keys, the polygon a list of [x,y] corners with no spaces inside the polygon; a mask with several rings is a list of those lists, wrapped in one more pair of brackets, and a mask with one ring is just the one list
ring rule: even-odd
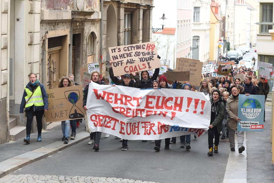
{"label": "globe picture on the blue Klima vor Profite sign", "polygon": [[253,98],[245,100],[241,106],[242,114],[249,119],[258,117],[261,114],[261,111],[261,103],[259,100]]}

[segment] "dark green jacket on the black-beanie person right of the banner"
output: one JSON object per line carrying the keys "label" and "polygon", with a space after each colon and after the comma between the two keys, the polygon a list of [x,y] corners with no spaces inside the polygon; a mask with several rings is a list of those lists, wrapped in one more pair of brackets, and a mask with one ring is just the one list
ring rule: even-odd
{"label": "dark green jacket on the black-beanie person right of the banner", "polygon": [[[213,99],[211,99],[211,104],[213,103]],[[215,106],[216,107],[216,116],[214,121],[211,123],[213,127],[217,126],[218,133],[220,133],[223,129],[223,118],[224,118],[224,104],[222,99],[218,102],[218,104]]]}

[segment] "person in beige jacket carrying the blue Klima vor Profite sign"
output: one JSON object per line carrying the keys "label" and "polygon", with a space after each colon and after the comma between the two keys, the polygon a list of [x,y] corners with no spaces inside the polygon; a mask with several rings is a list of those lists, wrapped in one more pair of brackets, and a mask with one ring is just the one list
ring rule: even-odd
{"label": "person in beige jacket carrying the blue Klima vor Profite sign", "polygon": [[[228,139],[230,143],[230,151],[235,151],[235,131],[237,131],[238,122],[240,122],[240,118],[238,118],[238,105],[239,105],[239,92],[241,88],[239,85],[232,86],[230,88],[231,95],[228,97],[226,103],[226,110],[228,114],[227,118],[227,127],[229,131]],[[247,94],[249,95],[249,94]],[[238,140],[238,150],[239,153],[242,153],[244,148],[244,132],[237,131],[237,140]]]}

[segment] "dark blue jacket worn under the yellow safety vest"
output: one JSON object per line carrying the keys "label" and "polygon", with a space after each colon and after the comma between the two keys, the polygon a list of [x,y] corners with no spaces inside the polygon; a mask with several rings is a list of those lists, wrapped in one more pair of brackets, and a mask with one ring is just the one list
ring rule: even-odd
{"label": "dark blue jacket worn under the yellow safety vest", "polygon": [[[44,85],[41,84],[41,83],[39,83],[39,86],[40,86],[40,89],[41,89],[41,92],[42,92],[44,105],[42,105],[42,106],[33,105],[33,110],[34,111],[35,110],[44,110],[44,109],[48,110],[49,103],[48,103],[48,96],[47,96],[47,93],[46,93],[46,89],[45,89]],[[32,89],[30,88],[30,82],[26,85],[26,88],[28,88],[28,89],[30,89],[30,91],[32,91]],[[24,94],[23,94],[23,97],[22,97],[21,105],[20,105],[20,113],[24,112],[24,107],[25,107],[25,103],[26,103],[25,96],[27,96],[27,93],[24,90]],[[30,107],[32,107],[32,106],[30,106]],[[30,107],[27,107],[26,110],[29,110]]]}

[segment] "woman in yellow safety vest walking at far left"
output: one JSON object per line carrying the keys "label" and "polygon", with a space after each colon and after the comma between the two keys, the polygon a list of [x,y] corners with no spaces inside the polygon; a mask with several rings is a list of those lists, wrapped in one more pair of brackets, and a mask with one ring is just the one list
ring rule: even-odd
{"label": "woman in yellow safety vest walking at far left", "polygon": [[22,102],[20,105],[20,113],[24,113],[24,108],[27,117],[26,131],[27,137],[24,142],[30,143],[30,131],[33,116],[36,116],[38,137],[37,142],[42,141],[42,117],[44,112],[48,111],[48,97],[43,84],[37,79],[37,75],[31,73],[30,82],[25,86]]}

